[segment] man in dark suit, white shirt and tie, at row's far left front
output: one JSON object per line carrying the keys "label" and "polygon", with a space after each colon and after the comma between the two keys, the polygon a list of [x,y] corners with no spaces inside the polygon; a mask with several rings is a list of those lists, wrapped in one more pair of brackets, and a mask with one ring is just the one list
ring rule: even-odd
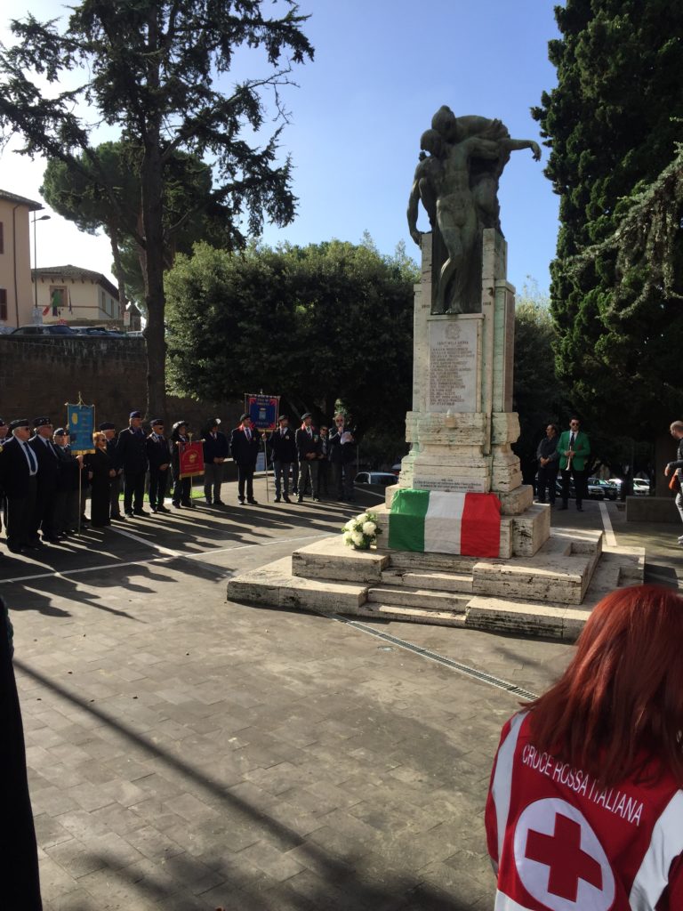
{"label": "man in dark suit, white shirt and tie, at row's far left front", "polygon": [[12,437],[0,453],[0,487],[7,497],[7,549],[13,554],[37,550],[41,542],[31,539],[36,491],[38,460],[28,445],[31,424],[25,419],[9,425]]}

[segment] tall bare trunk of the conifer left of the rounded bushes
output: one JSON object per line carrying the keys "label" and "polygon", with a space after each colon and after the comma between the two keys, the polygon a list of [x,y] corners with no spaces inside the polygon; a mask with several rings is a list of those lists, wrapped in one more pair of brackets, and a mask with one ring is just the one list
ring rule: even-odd
{"label": "tall bare trunk of the conifer left of the rounded bushes", "polygon": [[[150,131],[152,133],[153,131]],[[158,135],[158,134],[157,134]],[[142,224],[145,231],[147,305],[147,416],[166,420],[166,336],[164,331],[164,238],[160,142],[148,142],[142,162]]]}

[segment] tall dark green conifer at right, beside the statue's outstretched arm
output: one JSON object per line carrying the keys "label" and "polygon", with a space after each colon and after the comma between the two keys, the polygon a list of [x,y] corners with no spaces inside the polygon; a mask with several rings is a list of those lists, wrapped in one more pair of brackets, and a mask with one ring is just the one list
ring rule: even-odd
{"label": "tall dark green conifer at right, beside the statue's outstretched arm", "polygon": [[645,437],[683,393],[683,6],[567,0],[556,19],[558,85],[532,113],[561,198],[557,370],[586,416]]}

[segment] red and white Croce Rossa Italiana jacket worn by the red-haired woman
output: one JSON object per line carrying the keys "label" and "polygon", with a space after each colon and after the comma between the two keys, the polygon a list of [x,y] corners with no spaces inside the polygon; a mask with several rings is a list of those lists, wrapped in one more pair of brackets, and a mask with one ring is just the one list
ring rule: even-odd
{"label": "red and white Croce Rossa Italiana jacket worn by the red-haired woman", "polygon": [[528,712],[511,718],[485,814],[495,911],[683,909],[683,791],[659,763],[647,772],[603,790],[536,750]]}

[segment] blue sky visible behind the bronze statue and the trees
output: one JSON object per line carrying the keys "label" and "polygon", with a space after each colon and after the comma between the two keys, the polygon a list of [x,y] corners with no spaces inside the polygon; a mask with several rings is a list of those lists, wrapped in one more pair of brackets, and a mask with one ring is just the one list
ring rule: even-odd
{"label": "blue sky visible behind the bronze statue and the trees", "polygon": [[[267,228],[268,243],[332,237],[360,241],[369,230],[382,252],[398,241],[416,253],[405,209],[419,139],[443,104],[456,114],[500,118],[515,138],[539,139],[529,108],[555,85],[547,42],[556,37],[551,0],[302,0],[312,64],[296,67],[299,88],[285,90],[297,219]],[[5,0],[3,22],[58,15],[53,0]],[[268,5],[264,7],[268,8]],[[4,33],[4,34],[3,34]],[[0,38],[7,41],[4,27]],[[245,66],[249,56],[240,55]],[[227,88],[228,86],[226,86]],[[37,198],[44,162],[0,157],[0,187]],[[547,150],[544,149],[544,159]],[[548,286],[557,232],[557,198],[542,164],[515,152],[500,190],[509,244],[508,278]],[[426,229],[426,221],[421,227]],[[109,272],[107,241],[80,235],[53,215],[39,227],[38,265],[72,262]]]}

